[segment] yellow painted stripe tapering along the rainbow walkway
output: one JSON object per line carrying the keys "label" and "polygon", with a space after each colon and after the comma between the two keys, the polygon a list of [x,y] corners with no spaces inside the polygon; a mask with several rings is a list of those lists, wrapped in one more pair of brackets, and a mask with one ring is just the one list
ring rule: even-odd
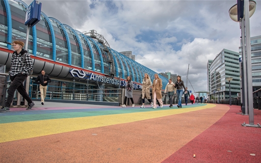
{"label": "yellow painted stripe tapering along the rainbow walkway", "polygon": [[75,130],[83,130],[95,127],[159,118],[169,115],[203,110],[215,106],[215,104],[207,104],[198,107],[160,110],[152,112],[4,123],[0,124],[0,143]]}

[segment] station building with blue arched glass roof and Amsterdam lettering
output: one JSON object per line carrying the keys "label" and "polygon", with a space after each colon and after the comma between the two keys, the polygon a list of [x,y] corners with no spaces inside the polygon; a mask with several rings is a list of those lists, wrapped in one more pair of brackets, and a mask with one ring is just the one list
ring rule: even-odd
{"label": "station building with blue arched glass roof and Amsterdam lettering", "polygon": [[[0,2],[0,64],[6,65],[8,73],[13,48],[3,42],[20,40],[25,43],[28,26],[24,22],[28,5],[20,0]],[[37,91],[34,79],[42,70],[52,79],[47,92],[73,90],[75,93],[81,93],[84,89],[124,87],[127,76],[134,81],[135,89],[141,89],[144,73],[148,73],[151,80],[156,73],[112,49],[95,30],[88,33],[74,30],[43,12],[41,20],[30,28],[27,50],[34,64],[29,93]],[[168,79],[159,76],[165,88]],[[31,94],[32,98],[35,96]]]}

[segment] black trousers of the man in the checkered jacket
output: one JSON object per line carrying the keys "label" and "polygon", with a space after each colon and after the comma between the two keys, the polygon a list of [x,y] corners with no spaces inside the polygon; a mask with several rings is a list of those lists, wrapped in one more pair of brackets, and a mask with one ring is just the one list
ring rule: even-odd
{"label": "black trousers of the man in the checkered jacket", "polygon": [[14,98],[15,90],[17,90],[22,95],[22,97],[25,100],[27,100],[28,103],[33,102],[32,99],[27,94],[27,91],[23,87],[23,82],[26,78],[27,78],[27,75],[23,75],[21,73],[15,75],[15,76],[10,76],[12,83],[7,90],[8,96],[7,96],[7,100],[6,100],[6,103],[5,103],[6,107],[10,107],[10,105],[13,101],[13,98]]}

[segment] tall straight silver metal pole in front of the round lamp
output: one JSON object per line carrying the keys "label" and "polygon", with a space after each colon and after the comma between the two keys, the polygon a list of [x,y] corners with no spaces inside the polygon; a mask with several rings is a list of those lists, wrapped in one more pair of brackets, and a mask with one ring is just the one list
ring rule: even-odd
{"label": "tall straight silver metal pole in front of the round lamp", "polygon": [[244,0],[245,24],[246,24],[246,57],[247,57],[247,92],[248,92],[248,112],[249,124],[254,125],[253,111],[253,86],[252,86],[252,65],[251,65],[251,50],[250,50],[250,23],[249,23],[249,2]]}

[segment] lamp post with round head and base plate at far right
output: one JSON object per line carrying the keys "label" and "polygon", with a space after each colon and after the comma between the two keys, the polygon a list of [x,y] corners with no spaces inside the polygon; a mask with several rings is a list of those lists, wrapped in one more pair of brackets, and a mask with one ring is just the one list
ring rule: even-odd
{"label": "lamp post with round head and base plate at far right", "polygon": [[[253,111],[253,86],[252,86],[252,67],[251,67],[251,50],[250,50],[250,22],[249,18],[254,14],[256,3],[254,1],[240,1],[238,4],[229,9],[229,16],[233,21],[241,22],[241,41],[242,41],[242,61],[244,85],[242,85],[242,92],[244,92],[246,115],[249,112],[249,124],[243,123],[242,126],[257,127],[254,125],[254,111]],[[247,89],[248,88],[248,89]],[[247,91],[248,90],[248,91]]]}

